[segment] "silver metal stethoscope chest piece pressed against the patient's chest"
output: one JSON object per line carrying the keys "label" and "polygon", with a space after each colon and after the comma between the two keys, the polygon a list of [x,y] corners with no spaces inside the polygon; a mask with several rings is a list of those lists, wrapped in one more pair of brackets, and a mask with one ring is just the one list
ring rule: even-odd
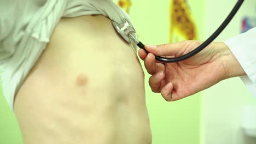
{"label": "silver metal stethoscope chest piece pressed against the patient's chest", "polygon": [[112,23],[121,37],[123,37],[127,43],[131,44],[132,39],[130,38],[130,35],[136,33],[135,28],[131,25],[131,23],[126,19],[123,19],[120,24],[115,21],[112,21]]}

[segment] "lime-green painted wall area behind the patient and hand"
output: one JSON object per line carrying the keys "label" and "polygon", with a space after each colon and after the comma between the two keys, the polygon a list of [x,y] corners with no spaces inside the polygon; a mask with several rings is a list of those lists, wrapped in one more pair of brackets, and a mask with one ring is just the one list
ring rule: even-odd
{"label": "lime-green painted wall area behind the patient and hand", "polygon": [[[117,2],[117,0],[114,1]],[[198,25],[201,21],[202,3],[200,2],[202,1],[191,0],[190,2],[193,3],[191,9],[194,10]],[[143,43],[168,43],[169,3],[169,0],[133,2],[130,15],[137,29],[138,38]],[[200,94],[179,101],[166,102],[160,94],[151,91],[148,86],[149,75],[146,70],[145,74],[146,99],[153,133],[153,144],[202,143]],[[2,94],[0,94],[0,143],[22,144],[18,123]]]}

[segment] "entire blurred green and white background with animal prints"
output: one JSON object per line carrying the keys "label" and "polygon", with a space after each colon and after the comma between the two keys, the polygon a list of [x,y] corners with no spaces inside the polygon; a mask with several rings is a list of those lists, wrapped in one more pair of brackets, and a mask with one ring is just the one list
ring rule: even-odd
{"label": "entire blurred green and white background with animal prints", "polygon": [[[145,44],[206,40],[223,22],[236,0],[114,0],[130,14]],[[256,26],[256,1],[246,0],[216,41]],[[142,63],[143,65],[143,63]],[[143,65],[143,69],[144,65]],[[153,93],[145,70],[146,100],[153,144],[256,143],[256,98],[239,77],[179,101],[166,102]],[[0,93],[0,143],[22,144],[19,125]]]}

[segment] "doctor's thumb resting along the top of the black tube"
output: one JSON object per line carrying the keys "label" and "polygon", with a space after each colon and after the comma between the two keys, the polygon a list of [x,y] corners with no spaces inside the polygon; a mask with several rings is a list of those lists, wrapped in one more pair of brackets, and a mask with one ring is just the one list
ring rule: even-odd
{"label": "doctor's thumb resting along the top of the black tube", "polygon": [[156,56],[173,56],[178,47],[177,44],[145,45],[146,50]]}

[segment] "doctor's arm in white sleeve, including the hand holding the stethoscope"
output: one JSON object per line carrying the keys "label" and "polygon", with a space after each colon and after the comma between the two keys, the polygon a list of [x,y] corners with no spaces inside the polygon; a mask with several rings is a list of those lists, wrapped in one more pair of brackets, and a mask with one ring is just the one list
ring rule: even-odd
{"label": "doctor's arm in white sleeve, including the hand holding the stethoscope", "polygon": [[[211,87],[230,77],[241,76],[256,96],[256,28],[237,35],[225,43],[212,43],[197,55],[178,63],[159,63],[156,56],[181,56],[201,44],[201,41],[147,46],[148,55],[139,50],[153,92],[161,92],[167,101],[182,99]],[[152,53],[154,55],[152,55]],[[164,71],[164,73],[161,73]],[[248,77],[250,79],[248,79]]]}

